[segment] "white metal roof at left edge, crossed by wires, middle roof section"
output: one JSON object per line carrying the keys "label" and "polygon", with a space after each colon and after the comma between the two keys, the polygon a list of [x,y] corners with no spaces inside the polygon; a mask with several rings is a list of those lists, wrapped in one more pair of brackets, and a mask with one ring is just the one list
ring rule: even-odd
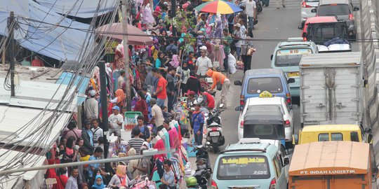
{"label": "white metal roof at left edge, crossed by wires, middle roof section", "polygon": [[[11,134],[14,134],[16,137],[13,141],[25,139],[27,134],[30,133],[34,133],[31,139],[41,135],[39,132],[35,132],[36,127],[40,127],[41,123],[44,123],[44,121],[52,115],[51,111],[46,111],[43,114],[41,111],[41,109],[23,109],[15,106],[0,105],[0,141],[4,139],[5,140],[3,142],[9,141],[13,137],[10,137],[10,139],[6,138]],[[39,113],[41,114],[39,115]],[[31,139],[29,138],[22,141],[20,146],[27,146],[27,144],[31,142],[29,145],[37,144],[38,147],[49,148],[50,146],[48,146],[48,144],[52,144],[53,141],[58,138],[60,132],[63,130],[65,125],[67,125],[67,121],[70,116],[70,113],[63,113],[62,116],[56,120],[51,128],[51,134],[46,136],[46,144],[39,144],[41,141],[30,141]],[[30,126],[26,127],[25,125],[28,123]],[[31,127],[32,125],[34,125],[34,127]]]}

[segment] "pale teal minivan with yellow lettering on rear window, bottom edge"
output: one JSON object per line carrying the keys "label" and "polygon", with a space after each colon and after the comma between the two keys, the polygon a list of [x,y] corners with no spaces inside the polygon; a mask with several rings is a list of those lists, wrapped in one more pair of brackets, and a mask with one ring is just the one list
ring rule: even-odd
{"label": "pale teal minivan with yellow lettering on rear window, bottom edge", "polygon": [[277,146],[241,139],[218,155],[211,188],[286,188],[289,158]]}

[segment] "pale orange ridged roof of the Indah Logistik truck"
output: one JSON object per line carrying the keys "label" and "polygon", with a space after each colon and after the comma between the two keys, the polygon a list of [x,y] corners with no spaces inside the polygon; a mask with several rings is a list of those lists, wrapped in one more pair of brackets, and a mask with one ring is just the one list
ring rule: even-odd
{"label": "pale orange ridged roof of the Indah Logistik truck", "polygon": [[352,141],[320,141],[295,146],[289,174],[304,172],[354,170],[365,173],[369,162],[369,144]]}

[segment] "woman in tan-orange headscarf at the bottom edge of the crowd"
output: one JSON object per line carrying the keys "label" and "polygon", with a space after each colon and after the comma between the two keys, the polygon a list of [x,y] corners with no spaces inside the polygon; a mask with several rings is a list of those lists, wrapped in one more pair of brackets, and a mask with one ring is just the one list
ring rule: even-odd
{"label": "woman in tan-orange headscarf at the bottom edge of the crowd", "polygon": [[126,176],[126,165],[118,165],[116,174],[112,176],[112,179],[109,181],[108,188],[128,188],[135,184],[139,178],[140,176],[138,175],[135,179],[130,180],[128,176]]}

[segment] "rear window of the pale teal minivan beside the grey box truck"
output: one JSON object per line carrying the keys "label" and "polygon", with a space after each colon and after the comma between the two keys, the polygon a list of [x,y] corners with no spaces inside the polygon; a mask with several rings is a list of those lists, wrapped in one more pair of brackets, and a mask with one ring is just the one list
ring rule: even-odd
{"label": "rear window of the pale teal minivan beside the grey box truck", "polygon": [[275,57],[275,66],[298,66],[302,55],[311,54],[309,48],[278,50]]}

